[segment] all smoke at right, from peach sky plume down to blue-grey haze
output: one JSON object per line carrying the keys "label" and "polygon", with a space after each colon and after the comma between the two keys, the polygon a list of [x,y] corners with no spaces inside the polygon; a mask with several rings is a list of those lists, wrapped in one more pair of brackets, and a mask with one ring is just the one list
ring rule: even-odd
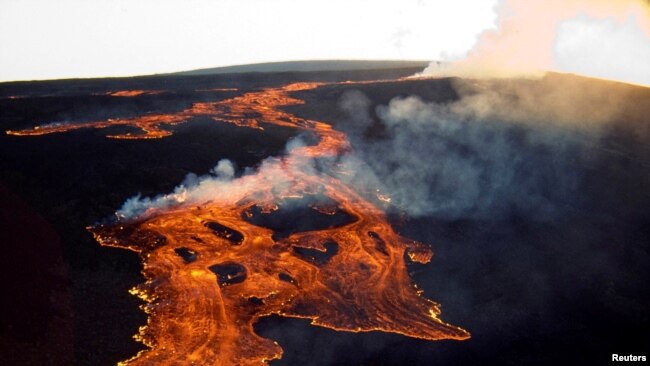
{"label": "all smoke at right, from peach sky plume down to blue-grey haze", "polygon": [[[647,1],[502,0],[497,12],[496,29],[464,59],[422,73],[475,79],[455,82],[457,101],[394,99],[376,110],[384,139],[356,140],[377,184],[411,215],[553,218],[579,205],[585,151],[593,155],[598,136],[633,103],[614,85],[546,72],[650,85]],[[536,80],[478,80],[513,77]],[[354,103],[363,98],[348,95],[341,108],[366,123],[368,114],[350,111]],[[637,122],[625,127],[647,136],[647,123]]]}

